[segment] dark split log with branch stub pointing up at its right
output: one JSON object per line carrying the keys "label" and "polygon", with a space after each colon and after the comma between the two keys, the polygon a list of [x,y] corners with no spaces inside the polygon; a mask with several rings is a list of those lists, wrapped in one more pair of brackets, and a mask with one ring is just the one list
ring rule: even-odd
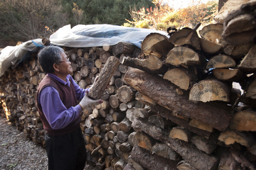
{"label": "dark split log with branch stub pointing up at its right", "polygon": [[197,29],[201,25],[198,23],[194,29],[185,27],[171,34],[169,41],[174,45],[190,45],[195,50],[200,50],[200,38],[197,35]]}

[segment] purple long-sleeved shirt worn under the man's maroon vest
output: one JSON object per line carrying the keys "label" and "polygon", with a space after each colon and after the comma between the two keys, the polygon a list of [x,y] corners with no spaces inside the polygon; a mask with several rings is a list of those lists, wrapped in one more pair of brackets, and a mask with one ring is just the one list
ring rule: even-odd
{"label": "purple long-sleeved shirt worn under the man's maroon vest", "polygon": [[[85,96],[86,90],[89,91],[89,88],[82,89],[79,87],[70,75],[66,77],[66,82],[54,74],[48,73],[48,76],[53,77],[66,86],[70,86],[71,82],[69,79],[71,79],[75,87],[77,100],[81,100]],[[46,116],[49,125],[53,129],[65,128],[69,123],[73,122],[82,111],[80,105],[67,109],[59,98],[58,91],[52,86],[44,87],[39,94],[38,100],[38,102],[41,103],[43,113]]]}

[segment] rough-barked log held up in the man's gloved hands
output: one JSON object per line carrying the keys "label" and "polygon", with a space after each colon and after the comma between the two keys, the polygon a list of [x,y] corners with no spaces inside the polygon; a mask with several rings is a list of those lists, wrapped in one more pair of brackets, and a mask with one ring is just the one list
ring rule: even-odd
{"label": "rough-barked log held up in the man's gloved hands", "polygon": [[118,68],[119,59],[115,56],[108,58],[108,61],[104,65],[103,70],[98,75],[98,80],[93,85],[89,92],[89,96],[92,99],[99,99],[105,91],[111,77],[114,75],[116,69]]}

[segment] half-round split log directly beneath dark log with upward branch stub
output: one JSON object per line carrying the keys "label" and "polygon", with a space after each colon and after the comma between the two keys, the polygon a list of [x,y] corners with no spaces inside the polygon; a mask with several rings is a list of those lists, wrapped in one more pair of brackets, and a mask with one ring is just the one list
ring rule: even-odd
{"label": "half-round split log directly beneath dark log with upward branch stub", "polygon": [[200,56],[194,50],[183,46],[174,47],[169,51],[165,62],[175,66],[201,63]]}

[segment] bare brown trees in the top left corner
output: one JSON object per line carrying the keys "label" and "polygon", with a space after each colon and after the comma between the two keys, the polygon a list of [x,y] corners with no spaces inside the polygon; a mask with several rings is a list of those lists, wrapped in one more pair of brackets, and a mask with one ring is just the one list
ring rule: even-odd
{"label": "bare brown trees in the top left corner", "polygon": [[0,0],[0,36],[16,42],[46,37],[66,24],[61,8],[57,0]]}

